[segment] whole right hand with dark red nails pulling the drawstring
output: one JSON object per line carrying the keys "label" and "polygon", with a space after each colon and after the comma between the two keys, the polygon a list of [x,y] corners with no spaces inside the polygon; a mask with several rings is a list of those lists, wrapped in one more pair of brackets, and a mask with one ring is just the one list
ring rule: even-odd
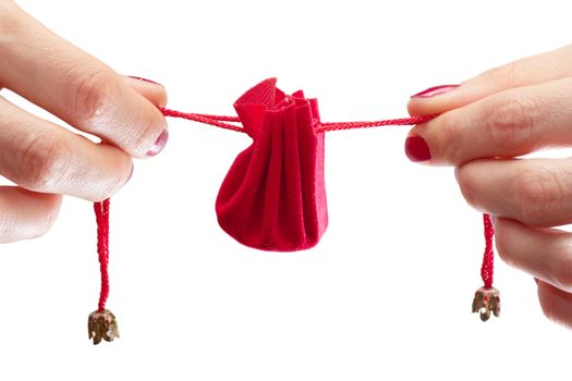
{"label": "whole right hand with dark red nails pulling the drawstring", "polygon": [[496,216],[500,257],[538,282],[546,316],[572,327],[572,159],[514,159],[572,146],[572,46],[411,98],[407,157],[454,165],[468,204]]}

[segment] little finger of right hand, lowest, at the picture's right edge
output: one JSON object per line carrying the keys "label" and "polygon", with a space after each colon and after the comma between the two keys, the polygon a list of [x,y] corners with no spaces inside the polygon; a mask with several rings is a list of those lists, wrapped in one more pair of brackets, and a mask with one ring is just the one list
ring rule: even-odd
{"label": "little finger of right hand, lowest, at the picture's right edge", "polygon": [[572,294],[548,283],[538,282],[538,300],[543,312],[550,320],[572,328]]}

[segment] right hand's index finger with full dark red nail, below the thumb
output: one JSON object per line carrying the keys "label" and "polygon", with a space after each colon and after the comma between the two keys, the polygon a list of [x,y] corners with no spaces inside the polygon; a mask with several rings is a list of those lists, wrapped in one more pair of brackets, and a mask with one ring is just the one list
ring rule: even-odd
{"label": "right hand's index finger with full dark red nail, below the thumb", "polygon": [[[406,146],[412,160],[459,165],[572,145],[572,77],[498,93],[417,125]],[[419,145],[426,155],[419,157]],[[422,147],[422,148],[423,148]]]}

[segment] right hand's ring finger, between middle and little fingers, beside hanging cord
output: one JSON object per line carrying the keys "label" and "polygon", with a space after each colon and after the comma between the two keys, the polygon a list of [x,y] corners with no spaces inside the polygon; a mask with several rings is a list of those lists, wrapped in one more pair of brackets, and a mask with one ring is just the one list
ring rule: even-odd
{"label": "right hand's ring finger, between middle and little fingers, beside hanging cord", "polygon": [[572,291],[572,234],[497,218],[496,245],[507,263],[556,287]]}

